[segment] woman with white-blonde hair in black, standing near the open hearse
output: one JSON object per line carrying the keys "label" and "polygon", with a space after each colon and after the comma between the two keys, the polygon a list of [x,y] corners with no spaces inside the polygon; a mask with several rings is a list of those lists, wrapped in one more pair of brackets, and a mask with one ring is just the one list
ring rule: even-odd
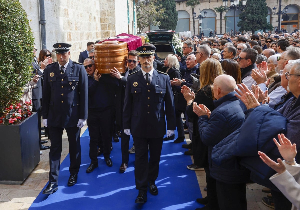
{"label": "woman with white-blonde hair in black, standing near the open hearse", "polygon": [[[169,76],[170,79],[173,80],[175,78],[182,79],[181,73],[179,71],[179,62],[175,55],[169,54],[167,58],[165,59],[164,68],[167,68],[165,71]],[[184,141],[184,129],[183,129],[183,123],[181,118],[181,113],[185,110],[181,110],[180,107],[185,107],[186,103],[183,98],[182,93],[180,92],[180,86],[174,86],[172,85],[172,90],[174,94],[174,102],[175,102],[175,119],[176,119],[176,127],[178,132],[178,137],[176,140],[174,140],[174,143],[181,143]],[[183,104],[182,106],[180,106]],[[175,136],[164,138],[164,140],[173,140]]]}

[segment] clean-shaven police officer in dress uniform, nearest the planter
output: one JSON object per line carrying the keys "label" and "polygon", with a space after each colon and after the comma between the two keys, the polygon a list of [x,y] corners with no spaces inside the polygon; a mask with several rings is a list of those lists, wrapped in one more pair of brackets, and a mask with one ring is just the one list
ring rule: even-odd
{"label": "clean-shaven police officer in dress uniform, nearest the planter", "polygon": [[64,129],[70,150],[68,186],[76,184],[81,163],[80,128],[88,116],[88,78],[83,65],[69,59],[70,46],[54,44],[58,62],[48,64],[44,70],[42,115],[44,126],[49,128],[51,147],[49,183],[43,194],[52,194],[58,189]]}

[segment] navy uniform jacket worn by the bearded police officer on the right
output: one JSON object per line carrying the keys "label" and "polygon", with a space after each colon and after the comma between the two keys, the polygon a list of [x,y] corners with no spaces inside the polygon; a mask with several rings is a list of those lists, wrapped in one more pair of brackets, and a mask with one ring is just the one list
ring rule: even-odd
{"label": "navy uniform jacket worn by the bearded police officer on the right", "polygon": [[167,130],[175,130],[175,108],[170,77],[154,70],[150,85],[142,71],[127,78],[123,112],[123,128],[133,137],[160,138]]}

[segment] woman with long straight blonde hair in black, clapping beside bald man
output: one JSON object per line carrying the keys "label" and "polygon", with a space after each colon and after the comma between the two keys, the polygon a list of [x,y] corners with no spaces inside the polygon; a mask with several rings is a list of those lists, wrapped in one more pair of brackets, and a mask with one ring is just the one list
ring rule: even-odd
{"label": "woman with long straight blonde hair in black, clapping beside bald man", "polygon": [[210,176],[208,166],[208,146],[202,143],[198,128],[199,117],[193,112],[193,102],[197,105],[203,104],[211,112],[214,110],[214,79],[223,74],[223,69],[216,59],[207,59],[200,65],[200,89],[196,95],[187,86],[182,87],[182,93],[187,101],[186,114],[193,121],[192,151],[194,164],[188,165],[190,170],[201,170],[204,168],[206,173],[206,187],[208,192],[208,206],[210,209],[219,209],[216,191],[216,180]]}

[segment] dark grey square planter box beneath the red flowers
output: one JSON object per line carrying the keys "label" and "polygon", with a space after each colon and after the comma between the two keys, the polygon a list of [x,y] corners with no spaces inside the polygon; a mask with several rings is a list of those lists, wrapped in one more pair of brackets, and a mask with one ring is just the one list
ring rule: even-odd
{"label": "dark grey square planter box beneath the red flowers", "polygon": [[0,184],[22,184],[40,162],[38,114],[19,125],[0,125]]}

